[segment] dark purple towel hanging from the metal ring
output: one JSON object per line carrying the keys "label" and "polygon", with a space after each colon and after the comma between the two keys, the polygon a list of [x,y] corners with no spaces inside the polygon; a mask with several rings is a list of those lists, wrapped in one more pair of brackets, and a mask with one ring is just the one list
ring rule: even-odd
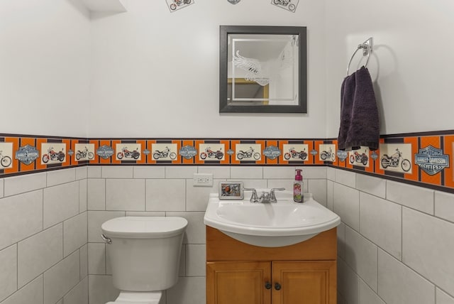
{"label": "dark purple towel hanging from the metal ring", "polygon": [[358,150],[360,146],[378,149],[380,122],[369,70],[362,66],[345,77],[341,87],[341,126],[338,148]]}

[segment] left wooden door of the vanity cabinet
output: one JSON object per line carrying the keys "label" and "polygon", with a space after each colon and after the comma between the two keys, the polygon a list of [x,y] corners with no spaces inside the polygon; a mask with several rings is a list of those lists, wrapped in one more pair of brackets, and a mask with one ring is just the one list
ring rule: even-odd
{"label": "left wooden door of the vanity cabinet", "polygon": [[271,283],[270,262],[206,263],[207,304],[271,304],[266,283]]}

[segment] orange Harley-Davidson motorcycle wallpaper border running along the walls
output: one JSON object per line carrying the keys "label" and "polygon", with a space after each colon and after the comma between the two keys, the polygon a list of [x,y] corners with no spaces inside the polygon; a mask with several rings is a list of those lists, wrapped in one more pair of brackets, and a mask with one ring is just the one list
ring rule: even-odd
{"label": "orange Harley-Davidson motorcycle wallpaper border running along the walls", "polygon": [[454,130],[381,136],[338,151],[337,139],[84,139],[0,134],[0,178],[84,165],[328,166],[454,193]]}

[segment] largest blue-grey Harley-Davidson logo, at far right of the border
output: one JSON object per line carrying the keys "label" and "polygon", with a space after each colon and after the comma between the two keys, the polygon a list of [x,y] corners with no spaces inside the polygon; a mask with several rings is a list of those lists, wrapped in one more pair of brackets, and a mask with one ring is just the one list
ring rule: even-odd
{"label": "largest blue-grey Harley-Davidson logo, at far right of the border", "polygon": [[433,146],[419,149],[415,155],[415,163],[419,168],[424,170],[428,175],[435,175],[444,168],[449,167],[449,156],[443,154],[443,151]]}

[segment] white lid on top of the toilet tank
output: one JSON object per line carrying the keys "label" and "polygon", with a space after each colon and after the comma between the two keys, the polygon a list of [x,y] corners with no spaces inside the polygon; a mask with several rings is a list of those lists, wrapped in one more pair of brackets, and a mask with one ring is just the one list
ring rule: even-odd
{"label": "white lid on top of the toilet tank", "polygon": [[172,237],[184,232],[183,217],[116,217],[101,225],[107,237],[148,239]]}

